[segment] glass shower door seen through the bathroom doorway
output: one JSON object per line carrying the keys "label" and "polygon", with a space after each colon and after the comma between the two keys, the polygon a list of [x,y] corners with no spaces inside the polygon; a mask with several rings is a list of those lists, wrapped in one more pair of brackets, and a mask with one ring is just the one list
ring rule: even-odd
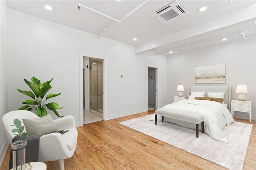
{"label": "glass shower door seen through the bathroom doorway", "polygon": [[90,108],[102,113],[102,60],[90,62]]}

